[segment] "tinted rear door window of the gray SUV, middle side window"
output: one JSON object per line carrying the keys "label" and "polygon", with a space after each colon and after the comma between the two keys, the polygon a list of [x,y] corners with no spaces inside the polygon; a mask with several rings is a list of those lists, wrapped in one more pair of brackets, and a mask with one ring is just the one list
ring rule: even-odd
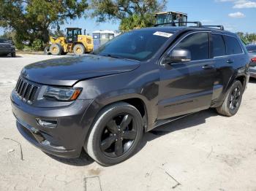
{"label": "tinted rear door window of the gray SUV, middle side window", "polygon": [[225,42],[223,40],[222,35],[213,34],[212,42],[214,46],[214,57],[226,54]]}

